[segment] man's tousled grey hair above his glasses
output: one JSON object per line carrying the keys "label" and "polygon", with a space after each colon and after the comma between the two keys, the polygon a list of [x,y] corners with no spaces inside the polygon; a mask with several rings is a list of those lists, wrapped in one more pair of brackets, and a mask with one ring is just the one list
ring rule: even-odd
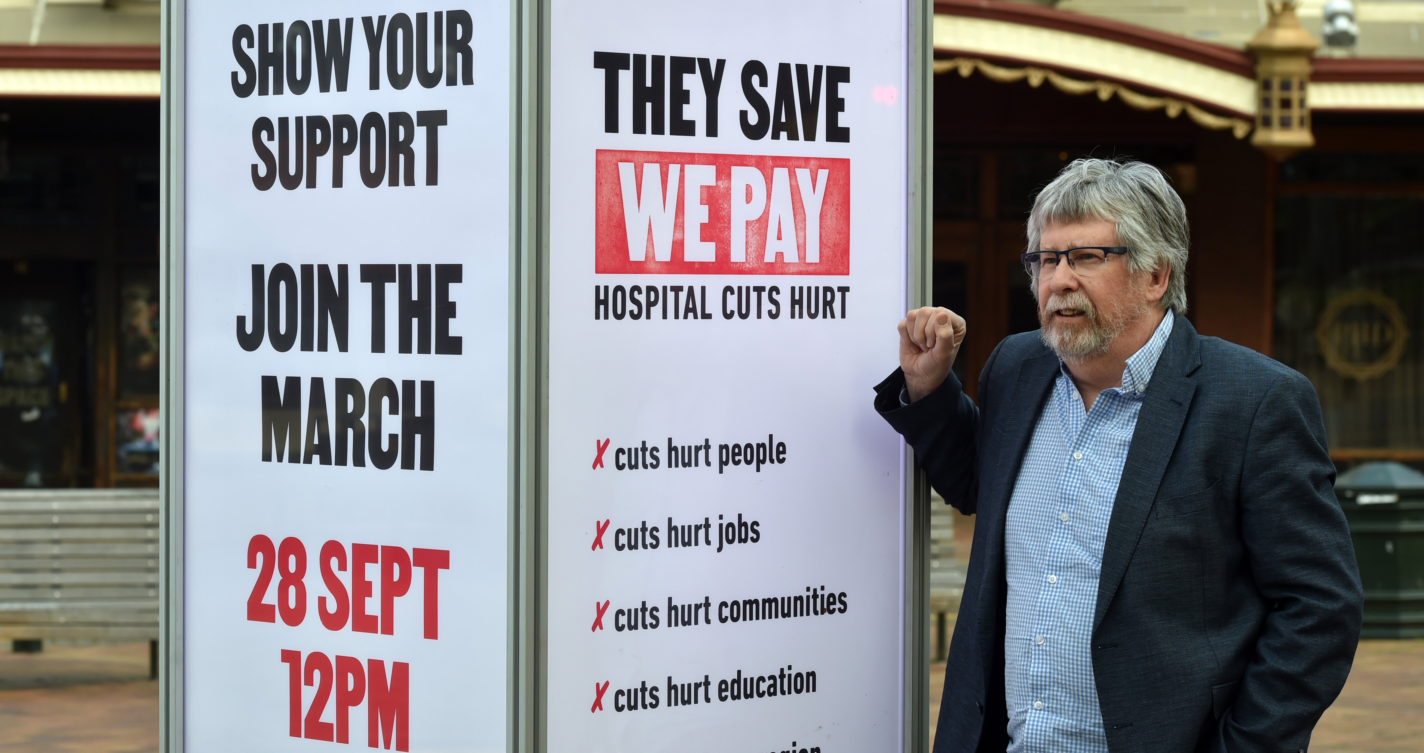
{"label": "man's tousled grey hair above his glasses", "polygon": [[1038,251],[1052,223],[1105,219],[1118,226],[1118,243],[1129,246],[1128,269],[1171,269],[1159,305],[1186,313],[1186,255],[1190,232],[1186,206],[1161,169],[1134,161],[1074,159],[1034,199],[1028,215],[1028,251]]}

